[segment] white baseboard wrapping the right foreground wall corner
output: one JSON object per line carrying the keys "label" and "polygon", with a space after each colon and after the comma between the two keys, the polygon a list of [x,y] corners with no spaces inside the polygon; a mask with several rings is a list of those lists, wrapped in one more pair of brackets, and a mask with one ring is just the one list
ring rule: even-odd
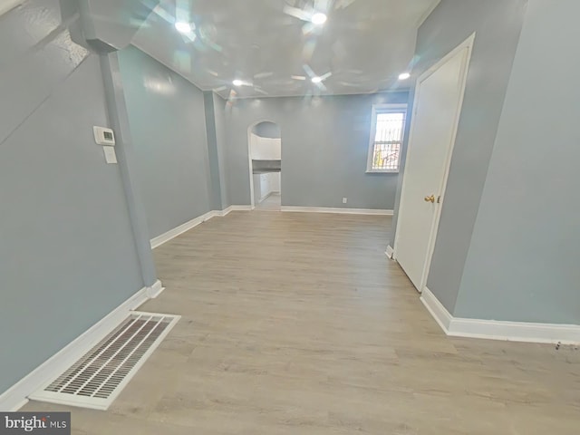
{"label": "white baseboard wrapping the right foreground wall corner", "polygon": [[423,289],[420,300],[441,329],[450,336],[509,342],[580,343],[580,325],[577,324],[536,324],[453,317],[427,287]]}

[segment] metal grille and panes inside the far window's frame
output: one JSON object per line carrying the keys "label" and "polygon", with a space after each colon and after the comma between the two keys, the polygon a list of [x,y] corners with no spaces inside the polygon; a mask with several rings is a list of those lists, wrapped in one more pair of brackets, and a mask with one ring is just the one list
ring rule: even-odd
{"label": "metal grille and panes inside the far window's frame", "polygon": [[404,112],[377,113],[372,170],[399,170]]}

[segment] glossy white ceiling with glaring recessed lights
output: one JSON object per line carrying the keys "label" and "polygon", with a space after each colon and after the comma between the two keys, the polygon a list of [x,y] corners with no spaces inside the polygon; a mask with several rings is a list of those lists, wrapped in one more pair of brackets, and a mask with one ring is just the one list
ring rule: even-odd
{"label": "glossy white ceiling with glaring recessed lights", "polygon": [[[226,98],[232,89],[237,97],[377,92],[408,87],[397,76],[410,68],[417,28],[439,1],[162,0],[133,43]],[[293,15],[301,11],[303,19]],[[306,21],[317,11],[328,15],[322,26]],[[176,16],[194,32],[180,34]],[[332,75],[317,85],[308,68]]]}

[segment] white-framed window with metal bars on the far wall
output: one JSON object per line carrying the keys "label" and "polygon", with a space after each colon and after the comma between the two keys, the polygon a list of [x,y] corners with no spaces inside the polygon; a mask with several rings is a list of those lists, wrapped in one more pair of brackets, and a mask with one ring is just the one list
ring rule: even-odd
{"label": "white-framed window with metal bars on the far wall", "polygon": [[372,106],[367,172],[399,172],[406,104]]}

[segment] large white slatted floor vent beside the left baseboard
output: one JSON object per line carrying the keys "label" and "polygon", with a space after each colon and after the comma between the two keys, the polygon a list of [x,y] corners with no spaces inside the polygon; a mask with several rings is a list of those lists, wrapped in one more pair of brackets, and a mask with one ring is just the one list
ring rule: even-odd
{"label": "large white slatted floor vent beside the left baseboard", "polygon": [[108,409],[179,318],[179,315],[132,312],[71,368],[30,399]]}

